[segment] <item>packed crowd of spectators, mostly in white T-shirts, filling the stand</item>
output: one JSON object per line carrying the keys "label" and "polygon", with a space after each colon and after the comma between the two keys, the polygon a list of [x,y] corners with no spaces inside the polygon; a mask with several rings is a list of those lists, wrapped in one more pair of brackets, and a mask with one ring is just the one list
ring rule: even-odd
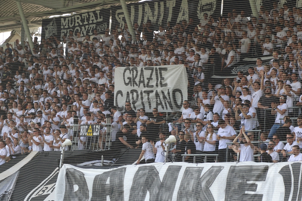
{"label": "packed crowd of spectators, mostly in white T-shirts, filling the stand", "polygon": [[[257,152],[259,161],[287,161],[287,153],[293,154],[290,161],[301,161],[302,9],[277,6],[257,17],[236,10],[219,19],[205,13],[196,26],[190,19],[159,31],[151,22],[134,24],[135,40],[125,24],[103,36],[71,31],[41,44],[35,38],[32,51],[27,42],[7,43],[0,48],[0,164],[19,153],[58,151],[66,139],[88,149],[87,136],[72,129],[77,123],[104,125],[99,149],[108,148],[105,124],[111,124],[116,157],[124,148],[142,149],[137,163],[143,156],[145,162],[163,162],[169,135],[178,139],[170,144],[175,161],[184,153],[218,153],[217,161],[234,161],[240,153],[240,161],[253,161]],[[210,78],[214,72],[230,75],[245,58],[257,58],[247,72]],[[133,111],[130,102],[125,111],[114,106],[115,68],[178,64],[189,81],[180,117],[161,108]]]}

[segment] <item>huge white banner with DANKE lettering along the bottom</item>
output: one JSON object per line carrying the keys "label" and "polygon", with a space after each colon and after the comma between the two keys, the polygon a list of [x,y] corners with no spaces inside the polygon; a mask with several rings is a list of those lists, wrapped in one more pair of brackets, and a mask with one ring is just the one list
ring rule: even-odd
{"label": "huge white banner with DANKE lettering along the bottom", "polygon": [[301,162],[153,163],[115,169],[63,165],[44,200],[301,200]]}

